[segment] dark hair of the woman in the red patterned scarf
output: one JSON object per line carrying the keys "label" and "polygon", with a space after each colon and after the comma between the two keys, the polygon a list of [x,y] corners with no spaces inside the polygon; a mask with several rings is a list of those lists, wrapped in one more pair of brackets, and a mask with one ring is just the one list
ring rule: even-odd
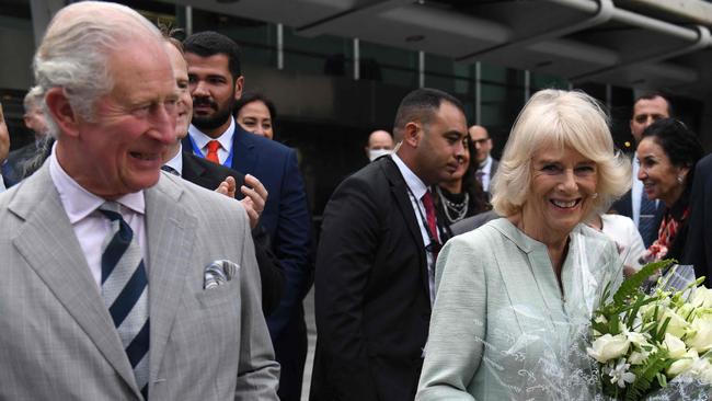
{"label": "dark hair of the woman in the red patterned scarf", "polygon": [[663,118],[645,128],[643,138],[648,137],[663,148],[673,165],[690,169],[687,185],[691,185],[694,165],[704,156],[702,142],[697,135],[676,118]]}

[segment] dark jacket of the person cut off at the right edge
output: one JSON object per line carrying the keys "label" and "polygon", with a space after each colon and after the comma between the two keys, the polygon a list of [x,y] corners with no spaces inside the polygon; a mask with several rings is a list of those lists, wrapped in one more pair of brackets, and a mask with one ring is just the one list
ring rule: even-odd
{"label": "dark jacket of the person cut off at the right edge", "polygon": [[680,262],[694,265],[694,274],[705,276],[704,285],[712,286],[712,154],[694,169],[687,243]]}

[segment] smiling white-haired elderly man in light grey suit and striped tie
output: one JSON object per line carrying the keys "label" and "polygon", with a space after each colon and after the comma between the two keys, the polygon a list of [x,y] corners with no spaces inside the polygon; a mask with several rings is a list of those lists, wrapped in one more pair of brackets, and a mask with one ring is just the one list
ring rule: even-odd
{"label": "smiling white-haired elderly man in light grey suit and striped tie", "polygon": [[34,69],[57,142],[0,195],[0,399],[276,400],[245,211],[160,172],[177,93],[158,30],[73,3]]}

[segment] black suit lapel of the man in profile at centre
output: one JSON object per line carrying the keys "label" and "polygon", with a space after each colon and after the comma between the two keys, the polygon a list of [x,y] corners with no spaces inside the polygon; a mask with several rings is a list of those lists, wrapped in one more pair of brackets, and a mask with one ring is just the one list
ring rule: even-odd
{"label": "black suit lapel of the man in profile at centre", "polygon": [[423,288],[426,294],[430,294],[430,285],[427,274],[427,260],[425,257],[425,243],[423,242],[421,228],[417,225],[418,217],[416,215],[416,211],[413,210],[413,203],[409,196],[407,185],[405,184],[405,180],[403,180],[403,175],[401,175],[400,170],[398,170],[398,165],[395,165],[395,162],[393,162],[390,157],[383,158],[381,165],[383,167],[386,177],[391,184],[391,194],[393,198],[395,198],[395,204],[401,211],[403,221],[405,221],[405,226],[407,227],[407,230],[411,234],[411,239],[413,240],[418,251],[418,264],[421,267]]}

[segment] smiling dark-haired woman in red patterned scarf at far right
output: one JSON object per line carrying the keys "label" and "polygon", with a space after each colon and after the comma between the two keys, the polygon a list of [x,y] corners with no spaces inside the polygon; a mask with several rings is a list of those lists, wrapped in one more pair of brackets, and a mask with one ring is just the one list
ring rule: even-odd
{"label": "smiling dark-haired woman in red patterned scarf at far right", "polygon": [[675,118],[659,119],[643,131],[638,146],[638,179],[648,199],[661,199],[666,206],[658,237],[647,249],[645,262],[681,256],[692,174],[702,156],[698,137]]}

